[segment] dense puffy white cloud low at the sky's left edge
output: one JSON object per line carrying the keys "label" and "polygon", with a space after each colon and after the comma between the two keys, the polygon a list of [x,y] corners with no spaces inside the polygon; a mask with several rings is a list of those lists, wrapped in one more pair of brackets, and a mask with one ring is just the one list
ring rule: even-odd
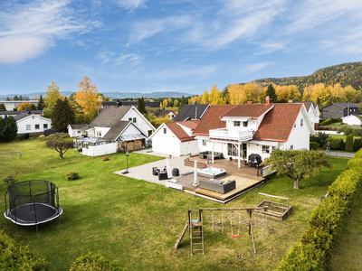
{"label": "dense puffy white cloud low at the sky's left edge", "polygon": [[24,62],[41,55],[52,42],[44,37],[0,38],[0,63]]}

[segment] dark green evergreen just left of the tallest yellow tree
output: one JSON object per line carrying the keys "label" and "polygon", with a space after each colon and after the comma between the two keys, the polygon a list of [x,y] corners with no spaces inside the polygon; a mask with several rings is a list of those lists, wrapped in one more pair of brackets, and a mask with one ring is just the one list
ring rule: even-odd
{"label": "dark green evergreen just left of the tallest yellow tree", "polygon": [[52,128],[58,132],[66,132],[68,125],[75,121],[74,109],[68,98],[58,98],[52,110]]}

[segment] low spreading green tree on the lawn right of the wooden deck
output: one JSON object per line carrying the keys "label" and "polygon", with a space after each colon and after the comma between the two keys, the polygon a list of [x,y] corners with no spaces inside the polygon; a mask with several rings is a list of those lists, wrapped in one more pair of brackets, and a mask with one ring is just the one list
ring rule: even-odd
{"label": "low spreading green tree on the lawn right of the wooden deck", "polygon": [[324,167],[331,168],[329,155],[319,151],[276,149],[266,158],[262,165],[270,165],[278,175],[285,175],[294,181],[294,189],[300,188],[300,180],[317,175]]}

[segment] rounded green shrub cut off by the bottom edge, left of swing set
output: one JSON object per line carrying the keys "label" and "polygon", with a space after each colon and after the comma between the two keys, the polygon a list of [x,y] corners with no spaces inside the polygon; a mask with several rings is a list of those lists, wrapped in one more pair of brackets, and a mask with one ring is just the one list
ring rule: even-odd
{"label": "rounded green shrub cut off by the bottom edge, left of swing set", "polygon": [[119,262],[113,261],[109,262],[104,257],[99,254],[88,253],[86,256],[81,256],[75,260],[71,265],[70,271],[83,271],[83,270],[92,270],[92,271],[121,271],[122,268],[119,265]]}

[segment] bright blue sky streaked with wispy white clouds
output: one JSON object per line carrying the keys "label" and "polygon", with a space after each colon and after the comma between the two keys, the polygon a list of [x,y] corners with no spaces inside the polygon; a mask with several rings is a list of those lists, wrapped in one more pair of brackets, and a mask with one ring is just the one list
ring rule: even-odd
{"label": "bright blue sky streaked with wispy white clouds", "polygon": [[181,91],[362,61],[362,1],[2,0],[0,93]]}

